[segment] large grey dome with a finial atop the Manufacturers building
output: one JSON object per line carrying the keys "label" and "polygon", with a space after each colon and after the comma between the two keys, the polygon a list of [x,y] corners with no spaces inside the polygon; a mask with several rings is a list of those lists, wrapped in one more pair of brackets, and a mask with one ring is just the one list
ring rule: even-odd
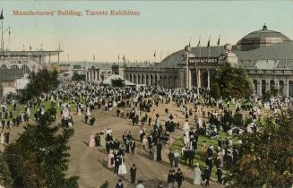
{"label": "large grey dome with a finial atop the Manufacturers building", "polygon": [[252,50],[258,47],[267,47],[272,44],[291,42],[292,40],[280,32],[268,30],[263,25],[263,30],[256,30],[237,42],[237,50]]}

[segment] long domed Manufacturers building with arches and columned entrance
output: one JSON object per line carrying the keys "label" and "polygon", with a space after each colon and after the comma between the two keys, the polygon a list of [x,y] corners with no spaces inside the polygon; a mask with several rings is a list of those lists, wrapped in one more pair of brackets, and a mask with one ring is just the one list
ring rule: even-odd
{"label": "long domed Manufacturers building with arches and columned entrance", "polygon": [[290,38],[263,25],[262,30],[247,34],[236,45],[186,46],[157,64],[116,65],[115,73],[135,84],[209,89],[215,69],[228,62],[246,69],[253,80],[255,95],[276,89],[293,97],[292,52]]}

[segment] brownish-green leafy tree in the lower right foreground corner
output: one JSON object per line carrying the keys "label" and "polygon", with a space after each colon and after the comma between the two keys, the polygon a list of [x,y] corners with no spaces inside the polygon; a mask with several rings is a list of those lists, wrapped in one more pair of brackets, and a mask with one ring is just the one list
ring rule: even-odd
{"label": "brownish-green leafy tree in the lower right foreground corner", "polygon": [[244,133],[242,158],[228,174],[236,187],[293,185],[293,111],[266,117],[260,132]]}

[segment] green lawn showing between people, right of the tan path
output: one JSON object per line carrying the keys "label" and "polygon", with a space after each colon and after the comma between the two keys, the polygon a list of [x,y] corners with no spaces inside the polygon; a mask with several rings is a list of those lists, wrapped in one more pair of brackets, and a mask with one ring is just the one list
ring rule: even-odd
{"label": "green lawn showing between people, right of the tan path", "polygon": [[[219,138],[221,140],[225,140],[228,137],[229,136],[226,132],[219,133]],[[206,136],[199,136],[199,139],[197,142],[197,150],[195,152],[194,164],[199,163],[202,172],[203,172],[203,169],[205,169],[205,167],[206,167],[206,165],[205,165],[206,156],[203,155],[203,153],[202,153],[203,141],[206,141],[207,146],[209,146],[209,145],[214,146],[214,149],[216,149],[218,147],[218,140],[217,139],[210,139],[209,137],[206,137]],[[237,138],[233,137],[232,141],[233,141],[233,143],[235,143],[237,141]],[[184,147],[183,137],[178,138],[172,144],[172,150],[178,150],[179,152],[181,152],[183,147]],[[180,158],[180,164],[185,165],[185,161],[183,158]],[[187,160],[187,164],[188,164],[188,160]],[[194,169],[194,166],[192,168]],[[225,174],[227,172],[227,169],[225,167],[223,167],[222,170],[223,170],[223,174]],[[217,175],[215,175],[216,171],[217,171],[217,168],[215,166],[212,167],[211,178],[213,178],[214,180],[216,180],[216,178],[217,178]]]}

